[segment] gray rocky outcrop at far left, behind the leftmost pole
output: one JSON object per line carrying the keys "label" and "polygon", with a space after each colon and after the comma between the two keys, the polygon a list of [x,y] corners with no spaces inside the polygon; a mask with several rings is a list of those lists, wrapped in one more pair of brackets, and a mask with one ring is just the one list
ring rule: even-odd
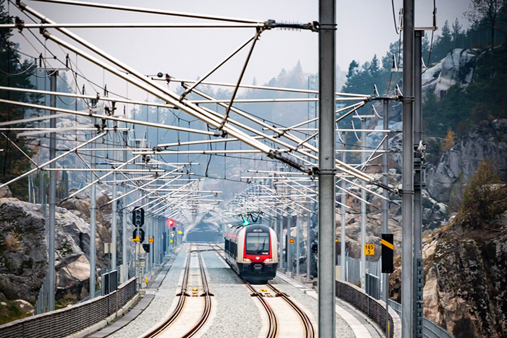
{"label": "gray rocky outcrop at far left, behind the leftmost pole", "polygon": [[[34,301],[48,271],[47,225],[41,206],[0,198],[0,292],[6,299]],[[90,227],[56,208],[56,298],[88,294]]]}

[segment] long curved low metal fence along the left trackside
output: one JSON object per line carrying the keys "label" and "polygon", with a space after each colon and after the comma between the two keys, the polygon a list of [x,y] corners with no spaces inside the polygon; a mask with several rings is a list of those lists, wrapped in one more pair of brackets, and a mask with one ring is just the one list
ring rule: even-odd
{"label": "long curved low metal fence along the left trackside", "polygon": [[110,294],[90,301],[0,325],[2,338],[59,338],[103,320],[118,311],[136,294],[135,278]]}

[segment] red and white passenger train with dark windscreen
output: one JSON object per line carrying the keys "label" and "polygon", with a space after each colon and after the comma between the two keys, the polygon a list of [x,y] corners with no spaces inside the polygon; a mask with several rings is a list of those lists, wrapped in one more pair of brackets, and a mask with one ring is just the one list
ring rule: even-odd
{"label": "red and white passenger train with dark windscreen", "polygon": [[267,281],[276,276],[278,242],[273,229],[262,224],[234,226],[225,234],[226,260],[249,281]]}

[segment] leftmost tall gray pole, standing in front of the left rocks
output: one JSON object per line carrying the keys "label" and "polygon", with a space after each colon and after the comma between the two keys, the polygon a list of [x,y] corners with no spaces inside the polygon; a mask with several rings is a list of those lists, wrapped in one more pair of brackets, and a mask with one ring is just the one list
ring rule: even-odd
{"label": "leftmost tall gray pole, standing in front of the left rocks", "polygon": [[[56,77],[58,71],[53,70],[51,73],[50,87],[51,91],[56,92]],[[51,95],[50,105],[56,107],[56,96]],[[55,115],[55,111],[51,111],[50,115]],[[49,126],[56,128],[56,118],[49,120]],[[49,159],[56,157],[56,133],[49,134]],[[56,168],[56,162],[49,164],[49,168]],[[41,172],[42,173],[42,172]],[[49,172],[49,233],[48,233],[48,283],[49,283],[49,306],[48,310],[55,309],[55,291],[56,291],[56,271],[55,271],[55,209],[56,209],[56,171]]]}

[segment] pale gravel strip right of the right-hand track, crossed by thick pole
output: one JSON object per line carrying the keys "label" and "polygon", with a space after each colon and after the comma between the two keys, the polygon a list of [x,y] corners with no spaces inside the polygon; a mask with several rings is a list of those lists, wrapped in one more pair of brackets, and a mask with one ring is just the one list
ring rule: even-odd
{"label": "pale gravel strip right of the right-hand track, crossed by thick pole", "polygon": [[[273,280],[270,281],[271,284],[273,284],[274,287],[276,287],[278,290],[285,292],[291,298],[298,304],[302,305],[306,309],[308,309],[312,315],[313,318],[318,318],[318,301],[317,299],[307,295],[306,293],[302,292],[298,288],[292,286],[291,284],[286,283],[279,277],[275,277]],[[317,328],[317,322],[313,322],[313,327]],[[352,329],[348,324],[342,319],[342,317],[336,315],[336,336],[341,338],[354,338],[354,332],[352,332]]]}

